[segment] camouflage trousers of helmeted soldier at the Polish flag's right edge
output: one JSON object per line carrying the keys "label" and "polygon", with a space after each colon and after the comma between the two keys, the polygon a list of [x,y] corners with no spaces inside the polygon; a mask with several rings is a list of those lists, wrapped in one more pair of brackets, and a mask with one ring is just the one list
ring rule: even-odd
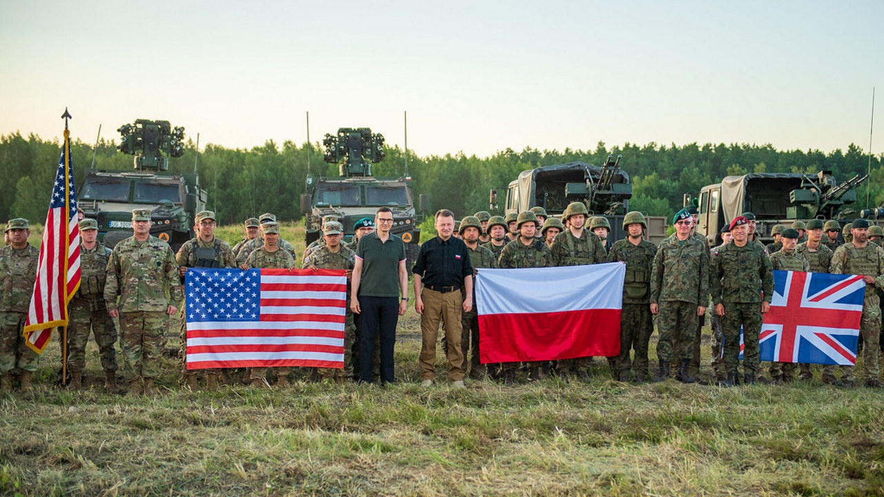
{"label": "camouflage trousers of helmeted soldier at the Polish flag's right edge", "polygon": [[[617,378],[629,379],[629,371],[635,371],[636,381],[648,378],[648,341],[654,325],[651,309],[646,303],[624,303],[620,315],[620,356],[617,356]],[[630,350],[635,357],[630,360]]]}

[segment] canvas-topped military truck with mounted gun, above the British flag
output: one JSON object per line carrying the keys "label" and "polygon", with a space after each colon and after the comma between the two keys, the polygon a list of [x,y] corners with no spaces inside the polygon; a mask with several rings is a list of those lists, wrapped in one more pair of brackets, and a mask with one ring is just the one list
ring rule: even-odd
{"label": "canvas-topped military truck with mounted gun, above the British flag", "polygon": [[[856,202],[856,188],[867,178],[868,175],[857,174],[839,184],[831,171],[815,175],[755,172],[728,176],[700,189],[697,233],[717,245],[721,242],[721,227],[746,211],[755,214],[756,233],[763,243],[773,241],[771,229],[777,224],[789,227],[796,220],[819,218],[839,220],[843,225],[857,213],[842,208]],[[691,200],[690,195],[685,195],[686,205]]]}

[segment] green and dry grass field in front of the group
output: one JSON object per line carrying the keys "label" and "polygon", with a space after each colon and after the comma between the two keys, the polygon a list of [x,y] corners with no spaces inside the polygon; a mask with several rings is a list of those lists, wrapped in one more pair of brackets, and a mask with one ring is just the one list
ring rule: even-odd
{"label": "green and dry grass field in front of the group", "polygon": [[884,494],[884,391],[631,385],[603,360],[589,384],[424,389],[419,337],[409,310],[393,386],[194,393],[170,336],[156,398],[58,389],[53,342],[37,388],[0,398],[0,494]]}

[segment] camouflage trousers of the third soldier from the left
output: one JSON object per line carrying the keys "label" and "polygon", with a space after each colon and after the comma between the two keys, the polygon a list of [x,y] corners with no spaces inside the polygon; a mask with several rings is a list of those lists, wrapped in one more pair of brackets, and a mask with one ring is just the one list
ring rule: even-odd
{"label": "camouflage trousers of the third soldier from the left", "polygon": [[136,311],[119,314],[119,346],[123,351],[123,378],[156,378],[165,340],[165,312]]}

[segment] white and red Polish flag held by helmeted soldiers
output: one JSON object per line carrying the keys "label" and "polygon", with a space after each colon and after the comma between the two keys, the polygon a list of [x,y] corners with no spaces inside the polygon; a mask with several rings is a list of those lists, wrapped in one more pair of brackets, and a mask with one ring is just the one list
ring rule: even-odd
{"label": "white and red Polish flag held by helmeted soldiers", "polygon": [[482,363],[620,354],[622,263],[480,269]]}

